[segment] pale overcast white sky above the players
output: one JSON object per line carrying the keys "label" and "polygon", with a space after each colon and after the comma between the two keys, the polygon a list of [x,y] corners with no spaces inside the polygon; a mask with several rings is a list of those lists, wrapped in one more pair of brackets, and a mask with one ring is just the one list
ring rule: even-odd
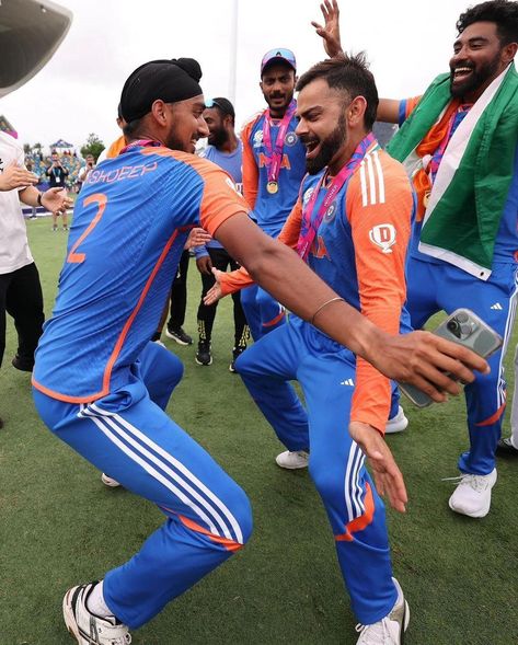
{"label": "pale overcast white sky above the players", "polygon": [[[196,58],[206,99],[231,96],[234,0],[57,0],[73,13],[60,48],[33,79],[0,99],[23,143],[47,147],[62,138],[79,148],[90,133],[105,145],[119,136],[116,108],[124,81],[142,62]],[[235,112],[238,127],[264,108],[258,88],[265,51],[288,47],[299,73],[325,58],[312,20],[315,0],[237,0]],[[342,2],[342,43],[366,50],[380,96],[421,94],[448,70],[454,28],[469,0]]]}

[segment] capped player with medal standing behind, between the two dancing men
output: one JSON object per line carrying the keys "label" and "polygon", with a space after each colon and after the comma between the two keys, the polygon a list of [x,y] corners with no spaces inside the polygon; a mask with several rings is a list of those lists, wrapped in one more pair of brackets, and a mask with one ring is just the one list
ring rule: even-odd
{"label": "capped player with medal standing behind, between the two dancing men", "polygon": [[[243,194],[253,218],[277,238],[299,195],[306,173],[303,146],[295,133],[297,64],[289,49],[267,51],[261,62],[261,90],[268,107],[245,124]],[[249,287],[241,303],[252,336],[258,341],[285,321],[284,309],[261,287]]]}

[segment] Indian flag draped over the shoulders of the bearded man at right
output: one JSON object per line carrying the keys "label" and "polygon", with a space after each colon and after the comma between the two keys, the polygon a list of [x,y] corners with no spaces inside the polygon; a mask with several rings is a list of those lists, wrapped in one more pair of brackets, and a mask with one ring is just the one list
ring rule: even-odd
{"label": "Indian flag draped over the shoulders of the bearded man at right", "polygon": [[440,74],[388,147],[403,163],[424,215],[419,251],[487,280],[514,173],[518,141],[518,74],[503,71],[453,133],[434,185],[426,166],[460,101]]}

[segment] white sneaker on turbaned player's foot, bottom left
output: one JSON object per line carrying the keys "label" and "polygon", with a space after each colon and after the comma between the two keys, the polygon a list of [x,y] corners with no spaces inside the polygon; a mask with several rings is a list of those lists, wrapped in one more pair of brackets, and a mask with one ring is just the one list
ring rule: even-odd
{"label": "white sneaker on turbaned player's foot, bottom left", "polygon": [[79,645],[129,645],[128,627],[112,615],[100,618],[87,609],[88,597],[97,583],[72,587],[65,594],[62,614],[70,635]]}

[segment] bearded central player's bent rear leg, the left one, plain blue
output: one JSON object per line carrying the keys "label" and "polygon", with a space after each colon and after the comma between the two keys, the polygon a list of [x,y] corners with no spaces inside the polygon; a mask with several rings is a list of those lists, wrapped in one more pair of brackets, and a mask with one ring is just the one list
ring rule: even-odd
{"label": "bearded central player's bent rear leg, the left one, plain blue", "polygon": [[293,387],[300,359],[299,332],[283,325],[249,347],[235,361],[252,399],[290,452],[307,450],[308,419]]}

